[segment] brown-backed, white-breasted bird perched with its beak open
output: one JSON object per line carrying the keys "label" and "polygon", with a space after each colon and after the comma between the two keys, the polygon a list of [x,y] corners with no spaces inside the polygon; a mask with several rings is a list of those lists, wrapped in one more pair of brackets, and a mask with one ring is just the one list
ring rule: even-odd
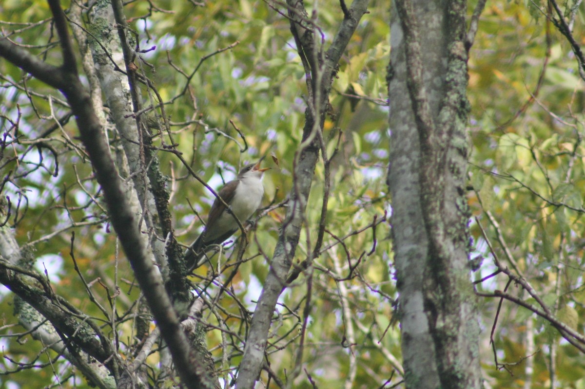
{"label": "brown-backed, white-breasted bird perched with its beak open", "polygon": [[[246,221],[260,207],[264,186],[262,176],[270,168],[260,168],[260,162],[246,165],[235,180],[229,181],[218,191],[218,197],[209,210],[207,224],[201,235],[185,250],[185,266],[192,272],[200,265],[200,260],[212,245],[221,244],[239,229],[240,223]],[[223,204],[228,204],[230,210]]]}

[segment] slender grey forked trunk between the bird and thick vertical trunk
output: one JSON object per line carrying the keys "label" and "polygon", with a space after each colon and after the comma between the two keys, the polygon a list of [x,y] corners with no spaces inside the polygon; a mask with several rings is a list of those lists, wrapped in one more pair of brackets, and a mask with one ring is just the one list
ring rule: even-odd
{"label": "slender grey forked trunk between the bird and thick vertical trunk", "polygon": [[[291,1],[288,2],[288,7],[289,9],[297,9],[298,11],[297,7],[300,4],[302,2]],[[242,363],[240,363],[239,374],[236,380],[236,386],[239,389],[253,388],[257,377],[259,377],[260,369],[263,366],[264,350],[266,349],[268,340],[271,317],[274,313],[278,297],[286,286],[287,273],[290,270],[292,258],[298,245],[301,226],[304,222],[304,211],[307,206],[309,193],[311,192],[311,180],[319,155],[319,143],[315,135],[317,131],[320,134],[322,128],[335,67],[343,51],[345,51],[347,43],[349,43],[350,38],[355,32],[357,23],[364,13],[367,12],[367,4],[368,0],[353,1],[348,12],[349,17],[346,14],[346,18],[340,24],[331,47],[329,47],[327,54],[324,55],[324,64],[318,66],[318,74],[315,74],[316,68],[311,66],[312,77],[307,77],[308,87],[311,88],[311,83],[314,83],[313,85],[315,85],[316,89],[312,91],[311,103],[307,111],[305,111],[305,127],[302,136],[302,146],[304,147],[297,151],[297,156],[295,157],[295,183],[290,193],[291,206],[288,207],[287,216],[281,229],[276,248],[274,249],[270,272],[264,283],[258,304],[256,305],[250,332],[246,339],[246,348],[244,349]],[[302,14],[302,10],[300,12],[299,15]],[[297,29],[296,26],[300,25],[291,19],[291,30],[293,33]],[[305,31],[304,39],[301,39],[302,37],[295,37],[297,44],[298,41],[301,41],[303,45],[302,47],[297,47],[297,50],[300,55],[306,55],[308,60],[318,57],[318,55],[309,50],[311,47],[314,49],[314,46],[312,46],[312,43],[314,43],[313,38],[307,36],[310,31]],[[303,41],[307,41],[307,45]],[[312,111],[311,108],[315,108],[315,106],[318,107],[318,112]],[[309,137],[313,137],[314,139],[311,141]]]}

